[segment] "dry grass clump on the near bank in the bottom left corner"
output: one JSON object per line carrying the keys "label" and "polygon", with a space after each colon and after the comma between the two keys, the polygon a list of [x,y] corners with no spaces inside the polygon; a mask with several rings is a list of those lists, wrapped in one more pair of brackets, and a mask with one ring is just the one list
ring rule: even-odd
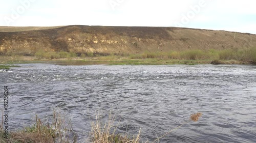
{"label": "dry grass clump on the near bank in the bottom left corner", "polygon": [[[3,118],[2,118],[3,121]],[[53,113],[53,121],[52,123],[43,123],[41,119],[36,116],[36,124],[25,127],[22,130],[10,132],[8,135],[8,139],[5,139],[3,136],[3,122],[1,126],[1,134],[0,142],[1,143],[68,143],[68,142],[76,142],[76,134],[72,130],[72,125],[70,121],[66,121],[66,119],[60,115],[60,112]],[[70,139],[70,136],[73,136]]]}

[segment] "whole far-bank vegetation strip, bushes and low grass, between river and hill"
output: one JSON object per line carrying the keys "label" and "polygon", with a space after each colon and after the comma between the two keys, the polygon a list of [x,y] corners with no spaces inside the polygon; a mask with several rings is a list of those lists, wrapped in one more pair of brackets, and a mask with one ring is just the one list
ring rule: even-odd
{"label": "whole far-bank vegetation strip, bushes and low grass, between river and hill", "polygon": [[[1,59],[1,57],[0,57]],[[73,52],[46,52],[38,50],[34,56],[3,56],[3,63],[14,64],[20,62],[71,62],[87,65],[173,65],[173,64],[256,64],[256,47],[249,49],[223,49],[200,50],[191,49],[184,51],[148,52],[138,54],[108,54],[105,56],[97,53],[80,54]],[[10,66],[1,65],[0,68],[8,69]]]}

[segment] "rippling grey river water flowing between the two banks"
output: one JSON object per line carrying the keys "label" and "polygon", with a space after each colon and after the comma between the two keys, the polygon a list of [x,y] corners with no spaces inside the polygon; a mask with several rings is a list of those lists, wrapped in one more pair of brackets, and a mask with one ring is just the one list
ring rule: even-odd
{"label": "rippling grey river water flowing between the two banks", "polygon": [[141,128],[142,141],[153,141],[202,112],[159,142],[256,142],[253,65],[17,65],[0,72],[2,91],[9,88],[10,130],[59,109],[83,142],[99,110],[103,120],[109,111],[120,120],[117,132]]}

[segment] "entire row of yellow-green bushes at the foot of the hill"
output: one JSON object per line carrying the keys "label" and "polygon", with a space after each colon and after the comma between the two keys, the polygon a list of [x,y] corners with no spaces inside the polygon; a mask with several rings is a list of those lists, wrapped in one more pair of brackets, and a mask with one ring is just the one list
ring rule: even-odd
{"label": "entire row of yellow-green bushes at the foot of the hill", "polygon": [[115,54],[115,53],[105,53],[104,56],[100,56],[98,53],[87,52],[87,53],[73,53],[73,52],[46,52],[44,50],[38,50],[35,53],[37,59],[71,59],[77,56],[83,57],[97,57],[97,60],[101,61],[113,61],[121,58],[131,59],[131,60],[146,60],[146,59],[156,59],[156,60],[210,60],[218,62],[219,60],[236,60],[241,62],[248,62],[251,64],[256,63],[256,47],[250,49],[190,49],[184,51],[169,51],[169,52],[143,52],[138,54]]}

